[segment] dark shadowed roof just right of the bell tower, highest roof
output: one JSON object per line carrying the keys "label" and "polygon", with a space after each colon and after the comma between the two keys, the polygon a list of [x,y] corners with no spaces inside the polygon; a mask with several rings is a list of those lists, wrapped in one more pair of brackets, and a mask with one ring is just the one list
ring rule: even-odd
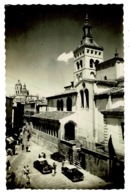
{"label": "dark shadowed roof just right of the bell tower, highest roof", "polygon": [[112,58],[110,60],[107,60],[107,61],[104,61],[100,64],[97,64],[96,65],[96,70],[101,70],[101,69],[105,69],[107,67],[115,66],[116,62],[118,62],[118,61],[123,62],[124,60],[123,60],[123,58],[120,58],[120,57]]}

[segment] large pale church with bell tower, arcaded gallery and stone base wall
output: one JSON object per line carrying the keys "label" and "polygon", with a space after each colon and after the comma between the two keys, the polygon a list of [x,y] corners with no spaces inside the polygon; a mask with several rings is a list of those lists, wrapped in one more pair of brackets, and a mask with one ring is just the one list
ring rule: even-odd
{"label": "large pale church with bell tower, arcaded gallery and stone base wall", "polygon": [[105,177],[110,139],[116,155],[124,156],[124,60],[116,51],[104,61],[103,47],[91,30],[86,15],[80,45],[73,52],[74,80],[63,92],[47,97],[47,111],[30,120],[35,142]]}

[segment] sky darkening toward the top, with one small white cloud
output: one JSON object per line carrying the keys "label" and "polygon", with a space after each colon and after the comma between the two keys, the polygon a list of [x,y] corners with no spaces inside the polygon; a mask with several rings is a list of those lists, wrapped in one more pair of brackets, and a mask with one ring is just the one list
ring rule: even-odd
{"label": "sky darkening toward the top, with one small white cloud", "polygon": [[123,5],[6,5],[6,95],[18,80],[30,94],[49,96],[73,80],[73,51],[88,13],[104,60],[123,54]]}

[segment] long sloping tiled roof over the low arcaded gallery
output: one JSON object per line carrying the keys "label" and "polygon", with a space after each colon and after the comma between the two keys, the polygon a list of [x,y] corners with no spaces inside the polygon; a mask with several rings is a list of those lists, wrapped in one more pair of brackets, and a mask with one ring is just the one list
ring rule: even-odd
{"label": "long sloping tiled roof over the low arcaded gallery", "polygon": [[52,119],[52,120],[60,120],[67,116],[70,116],[74,112],[71,111],[46,111],[40,114],[35,114],[32,117],[34,118],[43,118],[43,119]]}

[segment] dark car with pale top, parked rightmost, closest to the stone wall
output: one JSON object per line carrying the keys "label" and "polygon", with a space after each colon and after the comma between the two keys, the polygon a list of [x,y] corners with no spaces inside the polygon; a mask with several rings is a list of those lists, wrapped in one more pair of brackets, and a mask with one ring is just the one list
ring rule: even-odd
{"label": "dark car with pale top, parked rightmost, closest to the stone wall", "polygon": [[81,173],[74,165],[67,165],[62,167],[62,173],[73,182],[83,181],[84,174]]}

